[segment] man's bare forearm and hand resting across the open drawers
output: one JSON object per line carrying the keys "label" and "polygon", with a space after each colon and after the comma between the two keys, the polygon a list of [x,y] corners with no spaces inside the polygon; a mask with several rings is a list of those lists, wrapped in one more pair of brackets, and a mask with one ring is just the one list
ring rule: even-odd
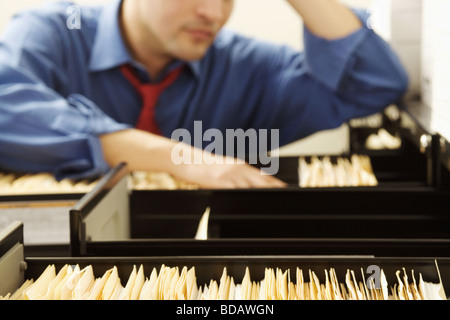
{"label": "man's bare forearm and hand resting across the open drawers", "polygon": [[[100,137],[105,160],[110,166],[126,162],[131,171],[166,172],[201,188],[279,188],[286,184],[272,176],[263,175],[249,164],[237,163],[206,151],[183,145],[193,159],[200,157],[202,164],[175,164],[172,150],[178,142],[144,131],[129,129]],[[231,160],[231,161],[229,161]],[[223,163],[223,164],[222,164]],[[230,164],[232,163],[232,164]]]}

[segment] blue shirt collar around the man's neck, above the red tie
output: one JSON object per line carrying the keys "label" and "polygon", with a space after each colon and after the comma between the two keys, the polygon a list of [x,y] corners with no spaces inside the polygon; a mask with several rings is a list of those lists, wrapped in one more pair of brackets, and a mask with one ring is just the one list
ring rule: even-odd
{"label": "blue shirt collar around the man's neck, above the red tie", "polygon": [[[127,63],[137,65],[125,45],[120,30],[119,14],[122,2],[123,0],[114,0],[103,7],[89,61],[90,71],[104,71]],[[179,61],[176,64],[181,63],[183,62]],[[200,61],[189,61],[186,65],[194,75],[197,77],[200,75]]]}

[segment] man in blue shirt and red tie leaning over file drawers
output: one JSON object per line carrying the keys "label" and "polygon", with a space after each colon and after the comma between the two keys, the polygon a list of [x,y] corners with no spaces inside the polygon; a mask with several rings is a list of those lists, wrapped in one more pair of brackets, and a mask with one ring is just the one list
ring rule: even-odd
{"label": "man in blue shirt and red tie leaning over file drawers", "polygon": [[112,0],[82,7],[79,29],[70,3],[18,15],[0,45],[0,167],[84,178],[127,162],[207,188],[282,186],[188,145],[203,164],[176,164],[180,144],[169,138],[201,121],[221,132],[279,129],[283,145],[379,112],[407,87],[363,13],[287,1],[305,23],[305,53],[222,30],[233,0]]}

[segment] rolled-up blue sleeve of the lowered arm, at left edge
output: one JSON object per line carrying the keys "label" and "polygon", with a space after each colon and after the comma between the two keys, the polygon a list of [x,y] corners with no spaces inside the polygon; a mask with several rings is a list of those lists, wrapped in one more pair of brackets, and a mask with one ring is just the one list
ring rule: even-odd
{"label": "rolled-up blue sleeve of the lowered arm, at left edge", "polygon": [[0,42],[0,168],[96,177],[109,169],[99,135],[127,126],[82,95],[54,90],[69,80],[55,54],[62,40],[48,28],[39,17],[17,17]]}

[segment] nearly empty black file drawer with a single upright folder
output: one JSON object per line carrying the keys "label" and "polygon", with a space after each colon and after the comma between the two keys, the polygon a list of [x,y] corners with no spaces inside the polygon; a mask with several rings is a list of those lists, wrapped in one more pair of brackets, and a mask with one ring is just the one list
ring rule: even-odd
{"label": "nearly empty black file drawer with a single upright folder", "polygon": [[[139,193],[137,199],[126,175],[126,165],[116,167],[72,208],[72,255],[108,256],[125,248],[131,256],[446,257],[450,252],[446,191],[152,191],[152,197]],[[206,207],[208,239],[194,240]],[[136,228],[142,229],[139,237],[132,232]]]}

